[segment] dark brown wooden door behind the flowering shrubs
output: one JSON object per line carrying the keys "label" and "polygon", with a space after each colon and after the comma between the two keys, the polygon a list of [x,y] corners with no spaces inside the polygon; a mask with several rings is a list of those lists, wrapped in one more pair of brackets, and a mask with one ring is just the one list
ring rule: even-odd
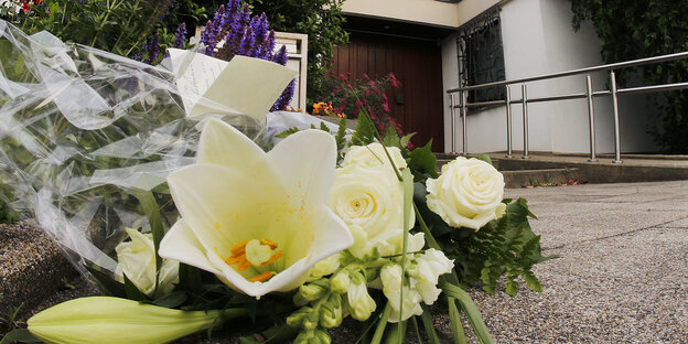
{"label": "dark brown wooden door behind the flowering shrubs", "polygon": [[437,42],[356,33],[348,45],[334,51],[334,60],[332,72],[351,72],[356,78],[394,73],[401,86],[387,94],[390,116],[405,133],[416,132],[415,147],[432,139],[432,151],[444,151],[442,54]]}

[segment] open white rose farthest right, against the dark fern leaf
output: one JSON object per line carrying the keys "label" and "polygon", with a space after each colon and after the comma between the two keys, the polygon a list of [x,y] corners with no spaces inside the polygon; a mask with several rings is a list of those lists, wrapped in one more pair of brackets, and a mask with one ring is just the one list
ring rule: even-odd
{"label": "open white rose farthest right, against the dark fern leaf", "polygon": [[503,211],[504,176],[482,160],[459,157],[426,186],[428,207],[452,227],[479,230]]}

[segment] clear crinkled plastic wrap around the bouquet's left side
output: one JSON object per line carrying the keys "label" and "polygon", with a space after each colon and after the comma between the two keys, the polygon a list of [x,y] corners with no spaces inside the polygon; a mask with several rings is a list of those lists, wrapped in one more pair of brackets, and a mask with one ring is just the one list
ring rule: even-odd
{"label": "clear crinkled plastic wrap around the bouquet's left side", "polygon": [[[194,162],[202,126],[175,84],[190,57],[179,61],[153,67],[0,21],[0,183],[13,194],[2,201],[34,214],[84,273],[116,271],[125,228],[151,232],[141,194],[170,204],[168,174]],[[271,144],[255,117],[184,96],[234,114],[223,119]],[[174,207],[162,211],[173,223]]]}

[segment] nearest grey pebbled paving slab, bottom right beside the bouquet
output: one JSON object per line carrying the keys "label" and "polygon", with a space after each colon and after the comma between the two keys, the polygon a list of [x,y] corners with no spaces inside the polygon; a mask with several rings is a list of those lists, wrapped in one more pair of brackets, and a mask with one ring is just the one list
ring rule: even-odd
{"label": "nearest grey pebbled paving slab, bottom right beside the bouquet", "polygon": [[536,267],[545,291],[472,295],[496,343],[686,343],[688,230],[572,245]]}

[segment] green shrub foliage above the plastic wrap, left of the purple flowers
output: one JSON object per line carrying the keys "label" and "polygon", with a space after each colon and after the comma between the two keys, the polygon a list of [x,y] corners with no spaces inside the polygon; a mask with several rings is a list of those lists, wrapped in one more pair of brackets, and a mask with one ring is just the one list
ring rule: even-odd
{"label": "green shrub foliage above the plastic wrap, left of the purple flowers", "polygon": [[[11,0],[10,2],[20,3]],[[28,11],[0,7],[0,19],[28,34],[46,30],[64,42],[94,46],[157,64],[174,40],[181,19],[198,20],[203,9],[191,0],[32,1]]]}

